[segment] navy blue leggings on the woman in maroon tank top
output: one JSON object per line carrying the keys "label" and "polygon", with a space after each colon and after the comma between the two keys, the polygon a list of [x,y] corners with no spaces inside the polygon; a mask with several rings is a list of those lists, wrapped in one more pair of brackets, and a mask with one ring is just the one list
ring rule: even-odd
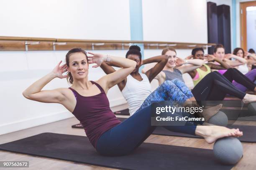
{"label": "navy blue leggings on the woman in maroon tank top", "polygon": [[[153,103],[154,107],[162,107],[159,103]],[[174,113],[173,117],[181,115]],[[186,122],[180,126],[164,126],[174,132],[195,135],[196,124]],[[131,153],[156,129],[151,126],[151,106],[145,107],[133,114],[124,122],[103,133],[97,141],[96,150],[101,155],[120,156]]]}

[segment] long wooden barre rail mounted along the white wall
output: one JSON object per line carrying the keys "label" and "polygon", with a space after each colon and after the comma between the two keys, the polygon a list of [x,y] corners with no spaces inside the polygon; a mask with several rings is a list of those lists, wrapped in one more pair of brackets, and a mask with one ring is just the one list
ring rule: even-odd
{"label": "long wooden barre rail mounted along the white wall", "polygon": [[207,48],[214,43],[179,43],[165,41],[123,41],[123,40],[82,40],[61,38],[31,38],[0,36],[0,51],[51,51],[82,48],[85,50],[125,50],[132,44],[143,44],[144,49],[163,49],[172,46],[176,49]]}

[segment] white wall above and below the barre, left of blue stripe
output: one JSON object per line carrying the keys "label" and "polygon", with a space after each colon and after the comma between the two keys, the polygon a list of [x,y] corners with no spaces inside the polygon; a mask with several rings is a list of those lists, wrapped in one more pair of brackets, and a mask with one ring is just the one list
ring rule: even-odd
{"label": "white wall above and below the barre, left of blue stripe", "polygon": [[[119,6],[120,8],[116,8]],[[130,39],[129,0],[0,1],[0,36],[77,39]],[[5,17],[3,17],[5,16]],[[125,56],[126,51],[94,51]],[[22,91],[45,74],[67,51],[0,51],[0,134],[72,117],[60,104],[30,101]],[[90,68],[89,79],[105,73]],[[54,79],[44,89],[68,87]],[[125,104],[117,86],[109,90],[110,107]]]}

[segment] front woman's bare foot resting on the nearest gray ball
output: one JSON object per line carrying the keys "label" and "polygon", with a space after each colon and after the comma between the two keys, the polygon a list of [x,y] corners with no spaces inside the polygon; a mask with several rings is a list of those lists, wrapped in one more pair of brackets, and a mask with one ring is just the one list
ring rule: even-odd
{"label": "front woman's bare foot resting on the nearest gray ball", "polygon": [[195,134],[204,137],[205,141],[211,144],[222,137],[241,137],[243,132],[222,126],[197,126]]}

